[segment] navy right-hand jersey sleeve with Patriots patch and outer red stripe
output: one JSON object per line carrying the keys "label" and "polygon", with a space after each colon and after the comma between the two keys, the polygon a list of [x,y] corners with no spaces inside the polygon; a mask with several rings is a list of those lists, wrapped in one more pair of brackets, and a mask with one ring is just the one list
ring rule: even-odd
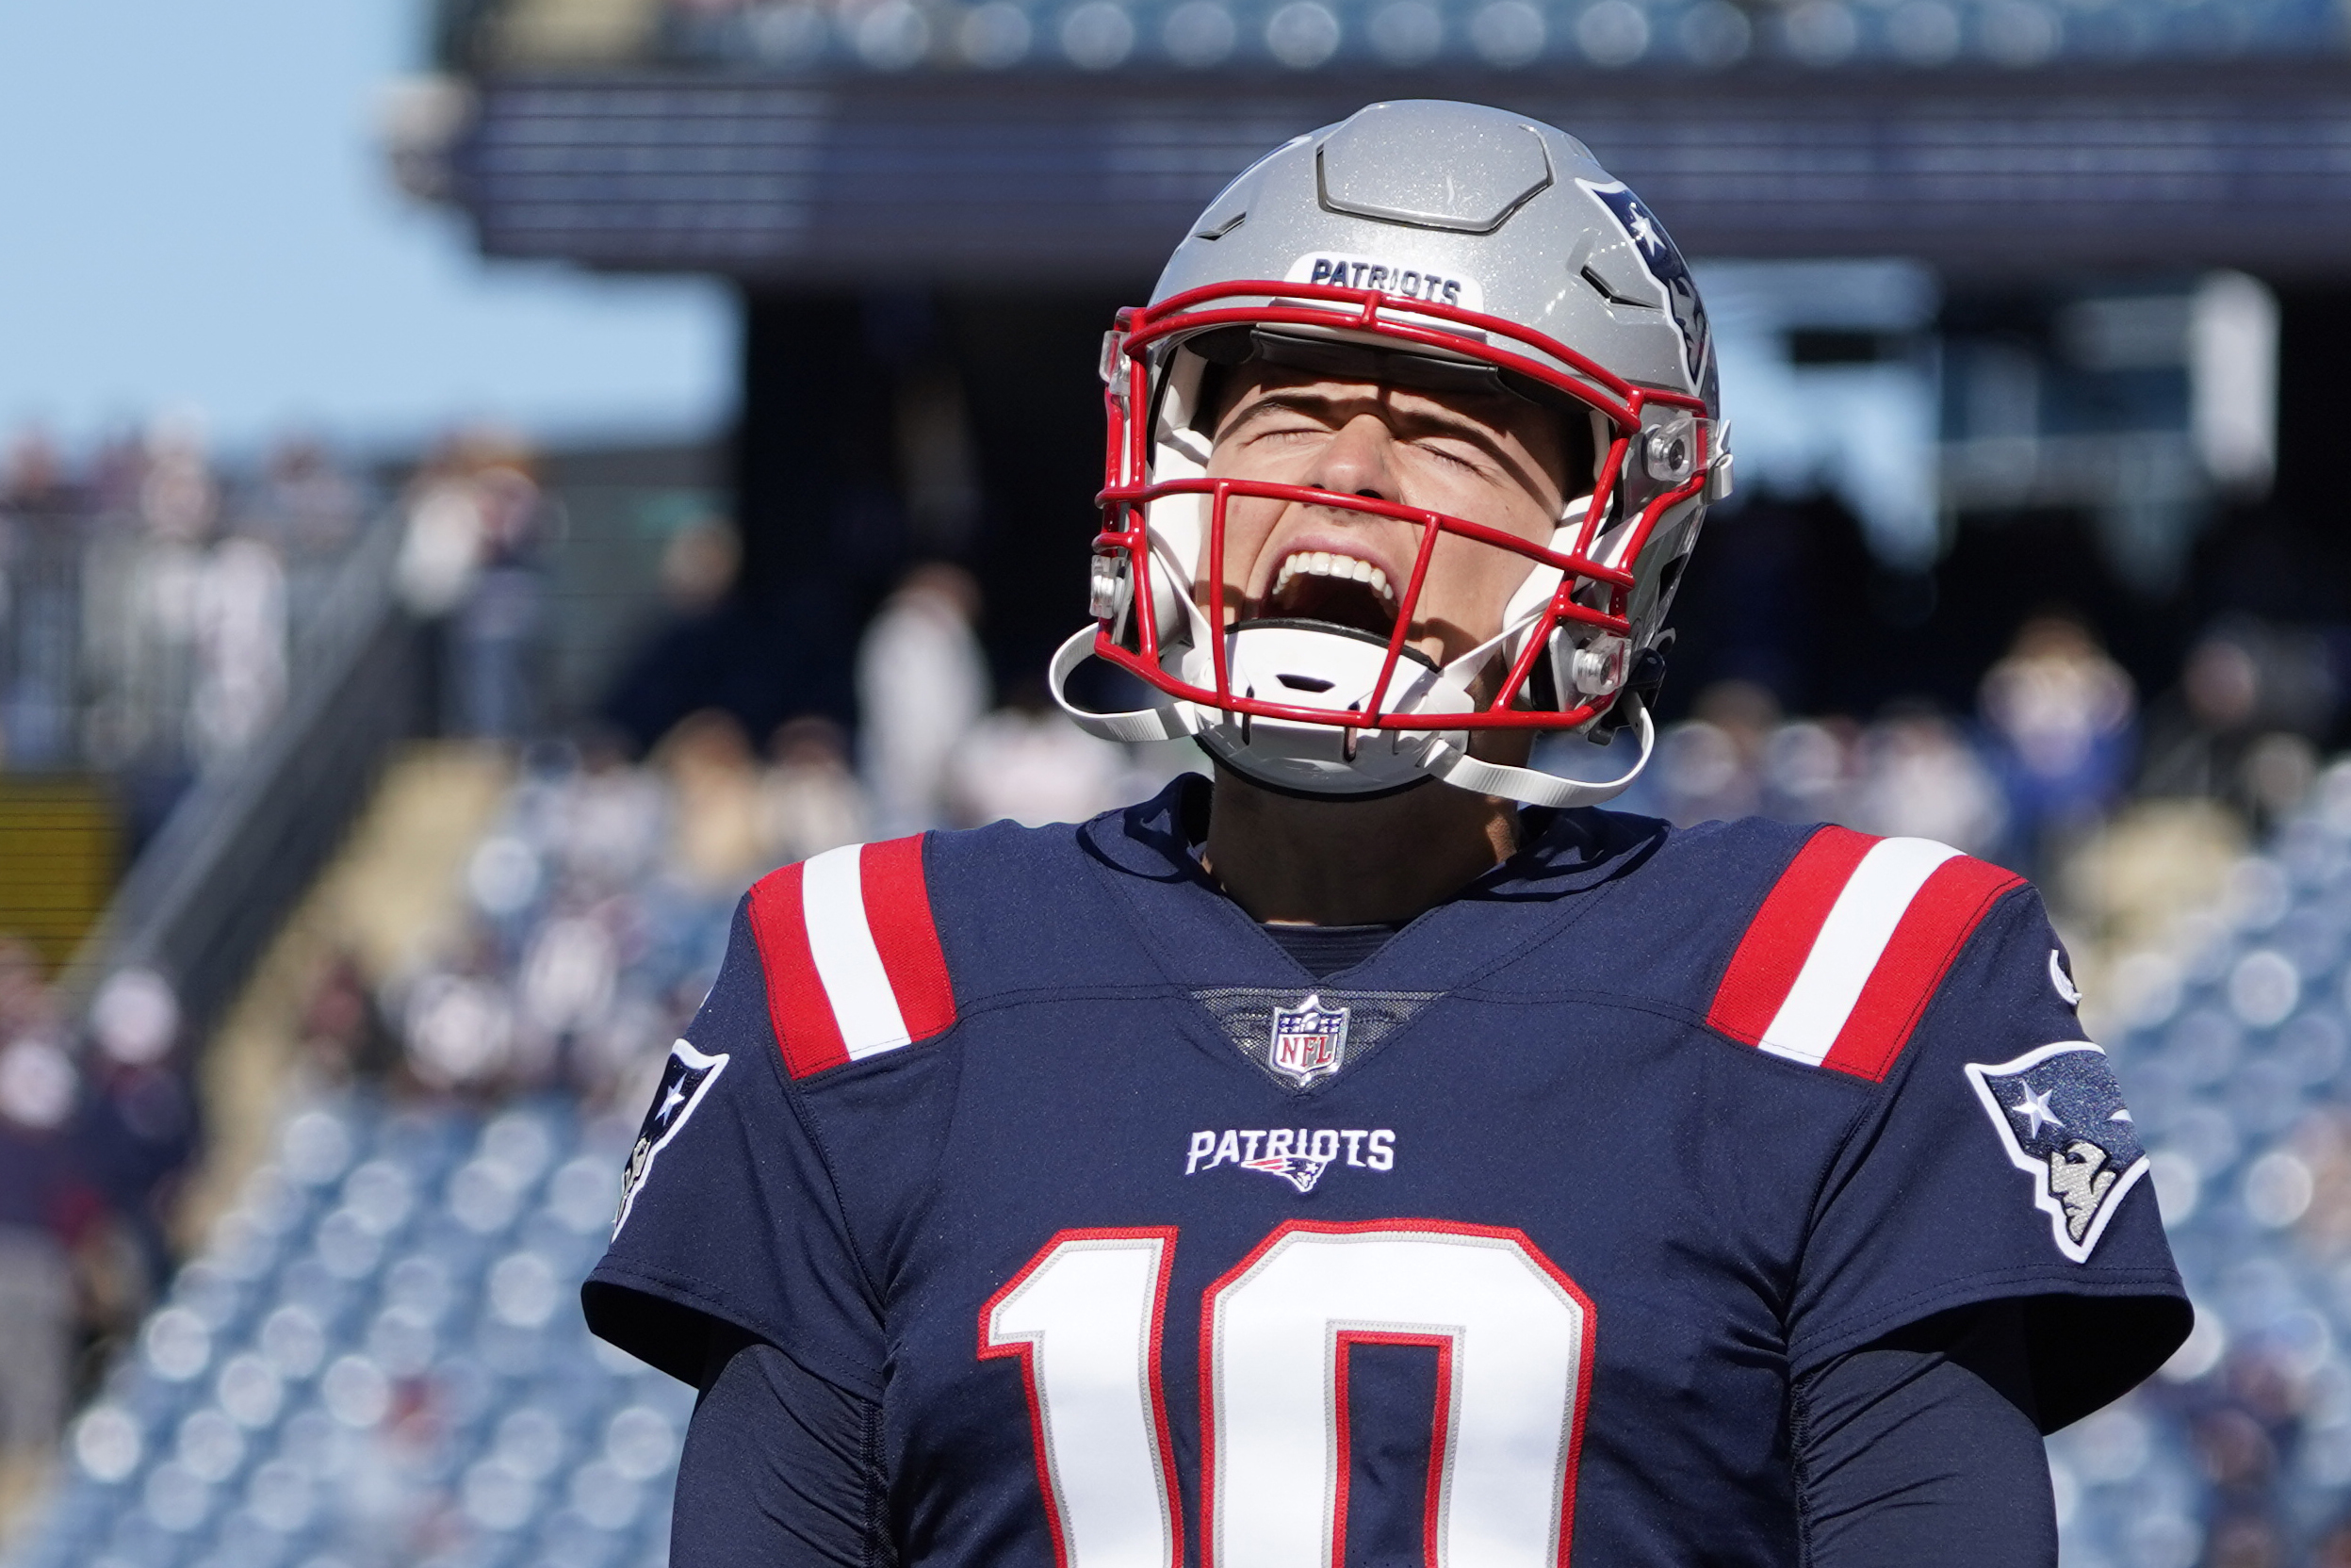
{"label": "navy right-hand jersey sleeve with Patriots patch and outer red stripe", "polygon": [[1843,1051],[1881,1088],[1815,1199],[1789,1359],[1801,1378],[1935,1314],[2024,1300],[2036,1415],[2057,1429],[2154,1373],[2191,1316],[2146,1150],[2083,1039],[2038,893],[1982,863],[1951,870],[1888,912],[1874,966],[1843,959],[1857,994],[1820,1065]]}

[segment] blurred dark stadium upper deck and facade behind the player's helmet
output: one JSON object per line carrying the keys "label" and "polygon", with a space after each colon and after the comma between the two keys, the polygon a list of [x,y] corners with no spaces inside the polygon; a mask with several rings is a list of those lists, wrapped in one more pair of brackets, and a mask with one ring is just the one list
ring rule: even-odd
{"label": "blurred dark stadium upper deck and facade behind the player's helmet", "polygon": [[[1977,581],[2003,574],[1963,517],[2027,524],[1998,555],[2067,557],[2142,675],[2177,656],[2144,607],[2271,456],[2241,440],[2182,463],[2170,440],[2191,423],[2201,275],[2283,296],[2271,531],[2309,510],[2299,463],[2323,463],[2316,409],[2351,329],[2327,0],[505,0],[444,7],[440,49],[447,89],[404,167],[484,254],[741,284],[745,590],[781,604],[820,578],[863,604],[875,562],[962,552],[1009,668],[1077,602],[1056,545],[1084,529],[1098,418],[1074,367],[1110,310],[1248,158],[1373,99],[1563,125],[1697,259],[1930,268],[1940,310],[1834,273],[1766,277],[1754,310],[1799,381],[1909,362],[1933,383],[1942,494],[1907,505],[1911,543],[1883,522],[1876,557],[1897,578],[1954,557],[1940,597],[1982,658],[2024,604]],[[2226,371],[2203,383],[2210,402]],[[940,386],[966,409],[973,498],[926,517],[900,494],[891,517],[877,496],[905,482],[872,433]],[[2052,517],[2069,510],[2088,538]],[[1916,543],[1928,512],[1942,534]],[[1848,693],[1820,651],[1794,661],[1815,701],[1888,696]]]}

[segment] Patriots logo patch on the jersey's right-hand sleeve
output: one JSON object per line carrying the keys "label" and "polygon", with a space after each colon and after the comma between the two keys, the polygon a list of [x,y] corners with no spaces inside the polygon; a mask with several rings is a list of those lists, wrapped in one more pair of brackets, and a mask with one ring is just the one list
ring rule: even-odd
{"label": "Patriots logo patch on the jersey's right-hand sleeve", "polygon": [[2050,1215],[2057,1251],[2088,1262],[2123,1194],[2146,1175],[2146,1150],[2106,1053],[2069,1039],[2012,1063],[1968,1063],[1965,1072],[2008,1161],[2034,1178],[2034,1206]]}

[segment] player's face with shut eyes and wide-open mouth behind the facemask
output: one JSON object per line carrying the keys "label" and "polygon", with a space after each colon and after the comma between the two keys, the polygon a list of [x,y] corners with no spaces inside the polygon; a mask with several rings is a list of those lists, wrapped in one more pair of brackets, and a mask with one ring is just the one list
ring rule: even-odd
{"label": "player's face with shut eyes and wide-open mouth behind the facemask", "polygon": [[[1538,545],[1570,496],[1561,416],[1507,393],[1427,393],[1317,371],[1244,364],[1215,416],[1208,473],[1310,484],[1448,512]],[[1413,576],[1420,529],[1324,505],[1234,496],[1225,512],[1225,583],[1194,569],[1201,609],[1223,625],[1312,618],[1387,637]],[[1502,630],[1533,564],[1446,534],[1413,607],[1411,644],[1439,665]]]}

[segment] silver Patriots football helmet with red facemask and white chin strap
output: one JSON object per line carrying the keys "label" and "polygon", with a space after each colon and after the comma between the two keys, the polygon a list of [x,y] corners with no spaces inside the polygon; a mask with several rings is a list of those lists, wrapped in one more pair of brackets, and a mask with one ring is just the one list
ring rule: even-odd
{"label": "silver Patriots football helmet with red facemask and white chin strap", "polygon": [[[1589,418],[1589,489],[1547,543],[1531,543],[1396,501],[1213,477],[1211,369],[1248,360],[1559,407]],[[1582,806],[1639,776],[1660,630],[1707,503],[1730,489],[1730,454],[1690,270],[1580,141],[1444,101],[1373,103],[1298,136],[1208,202],[1150,306],[1119,313],[1103,381],[1096,625],[1051,668],[1056,701],[1081,726],[1117,741],[1197,736],[1251,780],[1328,797],[1441,778]],[[1394,625],[1213,623],[1197,578],[1223,583],[1234,496],[1413,524],[1408,578],[1373,585]],[[1446,534],[1523,557],[1526,576],[1500,628],[1439,665],[1413,637]],[[1361,562],[1340,569],[1368,581]],[[1072,705],[1065,686],[1086,658],[1133,672],[1157,701],[1133,712]],[[1601,738],[1625,724],[1641,759],[1610,783],[1469,755],[1476,729]]]}

